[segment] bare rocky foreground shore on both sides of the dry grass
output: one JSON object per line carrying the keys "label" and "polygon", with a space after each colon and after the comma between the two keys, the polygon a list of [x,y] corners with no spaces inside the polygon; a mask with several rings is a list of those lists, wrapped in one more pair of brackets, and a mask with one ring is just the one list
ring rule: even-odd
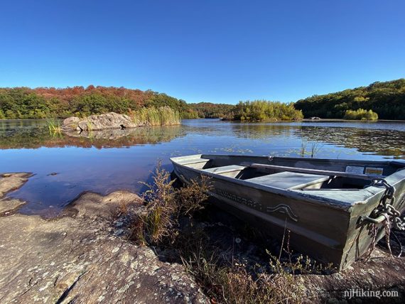
{"label": "bare rocky foreground shore on both sides of the dry grass", "polygon": [[[24,202],[6,197],[30,173],[0,175],[0,302],[1,303],[209,303],[195,278],[178,263],[168,263],[149,247],[128,241],[123,210],[142,212],[131,192],[107,196],[86,192],[58,218],[45,220],[18,214]],[[238,232],[236,219],[216,212],[196,223],[235,259],[259,259],[259,246]],[[404,239],[404,235],[400,236]],[[235,239],[238,241],[235,243]],[[390,257],[384,246],[371,261],[358,261],[340,273],[293,276],[293,286],[307,303],[369,303],[350,300],[344,292],[398,291],[381,303],[402,303],[405,258]],[[292,293],[286,291],[286,293]]]}

